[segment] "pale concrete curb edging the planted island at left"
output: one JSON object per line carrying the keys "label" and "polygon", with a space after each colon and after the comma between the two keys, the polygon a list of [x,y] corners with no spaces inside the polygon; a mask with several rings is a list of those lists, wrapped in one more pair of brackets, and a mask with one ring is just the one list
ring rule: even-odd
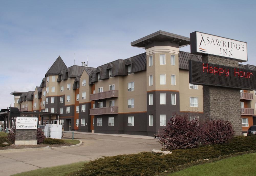
{"label": "pale concrete curb edging the planted island at left", "polygon": [[54,149],[73,148],[73,147],[78,147],[78,146],[82,145],[82,141],[81,140],[79,140],[79,141],[80,141],[79,144],[68,145],[68,146],[61,146],[61,147],[39,147],[39,148],[6,149],[6,150],[0,150],[0,154],[1,153],[9,153],[9,152],[40,151],[40,150],[54,150]]}

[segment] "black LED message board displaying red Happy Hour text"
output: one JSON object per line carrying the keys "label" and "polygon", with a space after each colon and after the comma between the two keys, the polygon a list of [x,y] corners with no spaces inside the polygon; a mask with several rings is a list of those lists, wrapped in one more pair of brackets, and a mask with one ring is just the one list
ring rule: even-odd
{"label": "black LED message board displaying red Happy Hour text", "polygon": [[190,60],[189,83],[256,90],[256,71]]}

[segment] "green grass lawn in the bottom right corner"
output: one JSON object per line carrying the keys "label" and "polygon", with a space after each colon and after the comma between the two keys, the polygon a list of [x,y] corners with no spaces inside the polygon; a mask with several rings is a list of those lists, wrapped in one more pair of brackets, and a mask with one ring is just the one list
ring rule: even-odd
{"label": "green grass lawn in the bottom right corner", "polygon": [[255,176],[256,153],[245,154],[220,161],[192,166],[167,176]]}

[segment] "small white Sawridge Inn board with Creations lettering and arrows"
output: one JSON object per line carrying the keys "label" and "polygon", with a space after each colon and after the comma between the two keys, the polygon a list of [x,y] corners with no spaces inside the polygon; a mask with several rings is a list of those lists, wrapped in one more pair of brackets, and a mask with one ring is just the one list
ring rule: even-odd
{"label": "small white Sawridge Inn board with Creations lettering and arrows", "polygon": [[16,129],[37,129],[37,117],[17,117]]}

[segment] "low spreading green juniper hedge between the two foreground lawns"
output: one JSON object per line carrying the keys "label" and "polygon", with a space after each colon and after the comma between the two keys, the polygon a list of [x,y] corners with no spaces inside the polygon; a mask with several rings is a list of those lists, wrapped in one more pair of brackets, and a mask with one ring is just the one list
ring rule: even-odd
{"label": "low spreading green juniper hedge between the two foreground lawns", "polygon": [[82,169],[69,176],[153,176],[162,171],[199,159],[217,158],[237,152],[256,150],[256,135],[235,137],[225,144],[198,148],[177,149],[172,154],[159,155],[151,152],[103,157],[86,163]]}

